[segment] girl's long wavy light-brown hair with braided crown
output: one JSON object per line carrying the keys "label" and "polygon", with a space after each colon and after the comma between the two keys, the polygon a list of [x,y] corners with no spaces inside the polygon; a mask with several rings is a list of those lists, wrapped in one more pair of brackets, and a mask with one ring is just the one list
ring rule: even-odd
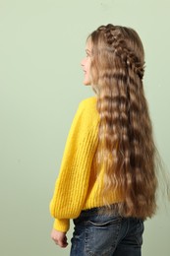
{"label": "girl's long wavy light-brown hair with braided crown", "polygon": [[[156,148],[143,92],[144,51],[137,32],[101,26],[92,32],[90,75],[100,115],[97,171],[107,191],[121,191],[119,212],[143,220],[156,210]],[[107,203],[107,202],[106,202]]]}

